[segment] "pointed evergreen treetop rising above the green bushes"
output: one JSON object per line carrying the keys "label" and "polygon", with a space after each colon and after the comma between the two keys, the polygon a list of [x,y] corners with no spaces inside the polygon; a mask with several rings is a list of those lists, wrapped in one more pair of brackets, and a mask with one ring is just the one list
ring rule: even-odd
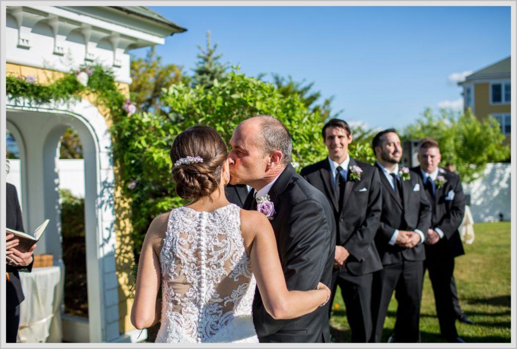
{"label": "pointed evergreen treetop rising above the green bushes", "polygon": [[229,64],[219,61],[223,55],[215,54],[217,43],[215,43],[213,47],[210,46],[210,31],[206,32],[206,50],[204,50],[201,45],[197,45],[197,48],[201,52],[197,54],[199,60],[194,69],[192,86],[202,85],[206,88],[210,88],[214,85],[215,79],[217,79],[218,82],[224,81]]}

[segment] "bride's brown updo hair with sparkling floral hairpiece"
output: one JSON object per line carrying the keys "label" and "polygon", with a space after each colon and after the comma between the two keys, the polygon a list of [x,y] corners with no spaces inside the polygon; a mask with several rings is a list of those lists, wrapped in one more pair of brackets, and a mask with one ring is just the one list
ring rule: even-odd
{"label": "bride's brown updo hair with sparkling floral hairpiece", "polygon": [[180,198],[198,200],[219,188],[227,148],[215,129],[202,125],[189,127],[176,136],[170,155]]}

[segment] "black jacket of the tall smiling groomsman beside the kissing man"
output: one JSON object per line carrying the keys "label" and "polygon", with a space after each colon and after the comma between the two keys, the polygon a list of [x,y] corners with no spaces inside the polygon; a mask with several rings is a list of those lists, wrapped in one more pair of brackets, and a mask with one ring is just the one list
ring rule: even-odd
{"label": "black jacket of the tall smiling groomsman beside the kissing man", "polygon": [[341,270],[364,275],[383,268],[374,241],[382,210],[381,180],[372,165],[350,158],[349,166],[354,165],[363,172],[360,180],[352,180],[348,169],[341,211],[328,158],[307,166],[300,174],[325,194],[333,208],[336,245],[343,246],[350,253]]}

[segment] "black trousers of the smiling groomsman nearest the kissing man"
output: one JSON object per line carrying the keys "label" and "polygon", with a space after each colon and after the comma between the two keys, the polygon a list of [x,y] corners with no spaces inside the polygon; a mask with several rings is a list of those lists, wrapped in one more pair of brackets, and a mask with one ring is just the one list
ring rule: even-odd
{"label": "black trousers of the smiling groomsman nearest the kissing man", "polygon": [[[347,271],[338,271],[338,269],[334,269],[332,273],[330,304],[334,304],[334,296],[336,296],[339,285],[345,302],[346,318],[352,332],[353,343],[367,343],[372,335],[372,282],[373,273],[352,275]],[[329,315],[331,309],[330,307]]]}

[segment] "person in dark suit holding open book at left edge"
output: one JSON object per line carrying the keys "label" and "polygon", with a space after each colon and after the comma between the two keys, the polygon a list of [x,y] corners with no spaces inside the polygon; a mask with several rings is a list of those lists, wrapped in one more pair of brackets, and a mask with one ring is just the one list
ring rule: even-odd
{"label": "person in dark suit holding open book at left edge", "polygon": [[[9,171],[9,170],[8,170]],[[6,227],[23,232],[22,211],[18,202],[16,187],[6,183]],[[25,299],[20,282],[20,271],[30,272],[33,266],[33,245],[27,252],[14,247],[19,240],[14,235],[6,235],[6,342],[16,343],[20,324],[20,303]]]}

